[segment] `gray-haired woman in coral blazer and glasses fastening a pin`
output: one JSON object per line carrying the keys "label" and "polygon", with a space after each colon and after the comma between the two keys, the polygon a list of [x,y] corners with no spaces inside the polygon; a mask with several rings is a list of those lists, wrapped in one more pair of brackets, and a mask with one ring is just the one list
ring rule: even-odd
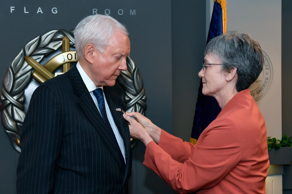
{"label": "gray-haired woman in coral blazer and glasses fastening a pin", "polygon": [[248,89],[262,72],[261,47],[233,31],[213,38],[204,55],[202,93],[222,110],[198,142],[183,142],[135,112],[124,114],[130,135],[146,146],[143,164],[179,193],[265,193],[267,132]]}

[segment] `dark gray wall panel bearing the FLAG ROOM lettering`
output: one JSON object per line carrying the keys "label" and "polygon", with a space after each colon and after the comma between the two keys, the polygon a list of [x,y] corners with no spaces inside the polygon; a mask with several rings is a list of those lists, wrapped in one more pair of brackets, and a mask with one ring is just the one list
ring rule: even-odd
{"label": "dark gray wall panel bearing the FLAG ROOM lettering", "polygon": [[[92,15],[93,9],[94,11],[97,9],[99,14],[109,14],[124,23],[131,41],[130,56],[139,67],[144,81],[148,105],[146,115],[157,125],[172,133],[170,1],[1,0],[0,5],[1,80],[4,79],[8,66],[27,42],[50,30],[69,31],[75,28],[82,18]],[[14,9],[12,13],[11,6]],[[52,13],[54,7],[57,13]],[[0,86],[2,88],[2,81]],[[165,119],[160,119],[161,115]],[[130,191],[132,193],[157,191],[172,193],[169,186],[142,165],[145,148],[144,145],[139,144],[133,149],[133,176]],[[0,193],[15,193],[15,173],[19,153],[11,146],[2,125],[0,126],[0,157]],[[134,177],[137,177],[137,181]]]}

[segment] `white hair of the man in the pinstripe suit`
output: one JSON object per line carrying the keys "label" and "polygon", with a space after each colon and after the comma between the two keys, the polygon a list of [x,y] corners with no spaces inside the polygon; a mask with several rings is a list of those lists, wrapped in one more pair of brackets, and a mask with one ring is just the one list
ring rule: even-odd
{"label": "white hair of the man in the pinstripe suit", "polygon": [[103,53],[115,30],[129,34],[124,25],[108,15],[95,14],[82,19],[74,30],[76,54],[83,58],[87,44],[93,44]]}

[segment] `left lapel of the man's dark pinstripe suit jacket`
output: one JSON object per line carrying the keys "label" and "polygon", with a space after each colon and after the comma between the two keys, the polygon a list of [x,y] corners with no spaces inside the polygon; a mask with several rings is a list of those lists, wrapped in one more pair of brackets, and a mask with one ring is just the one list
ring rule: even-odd
{"label": "left lapel of the man's dark pinstripe suit jacket", "polygon": [[99,133],[110,152],[113,154],[120,166],[122,166],[113,140],[108,133],[108,129],[106,128],[103,119],[99,114],[99,111],[80,76],[80,73],[76,67],[73,67],[70,71],[68,71],[68,74],[72,82],[73,89],[79,96],[78,104],[80,105],[88,120]]}

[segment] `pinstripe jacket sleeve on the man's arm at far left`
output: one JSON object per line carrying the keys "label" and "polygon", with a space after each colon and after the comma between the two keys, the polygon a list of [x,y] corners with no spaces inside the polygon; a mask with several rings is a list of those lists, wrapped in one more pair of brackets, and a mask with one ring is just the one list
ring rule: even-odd
{"label": "pinstripe jacket sleeve on the man's arm at far left", "polygon": [[50,193],[62,136],[62,118],[52,90],[38,87],[31,98],[20,135],[17,193]]}

